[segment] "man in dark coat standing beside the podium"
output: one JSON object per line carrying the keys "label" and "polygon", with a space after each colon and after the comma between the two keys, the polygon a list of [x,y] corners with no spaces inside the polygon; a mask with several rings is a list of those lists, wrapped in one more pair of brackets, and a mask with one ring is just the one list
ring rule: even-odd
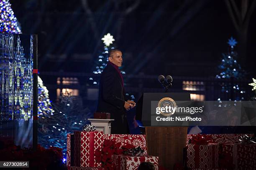
{"label": "man in dark coat standing beside the podium", "polygon": [[120,50],[110,50],[108,64],[100,76],[100,91],[97,112],[109,112],[112,134],[127,134],[128,122],[126,111],[136,103],[125,98],[123,76],[118,67],[122,66],[123,56]]}

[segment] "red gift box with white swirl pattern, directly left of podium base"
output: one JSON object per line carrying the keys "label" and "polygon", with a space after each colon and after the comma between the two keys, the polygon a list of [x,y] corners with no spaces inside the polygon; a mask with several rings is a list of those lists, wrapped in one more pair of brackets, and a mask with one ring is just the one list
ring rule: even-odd
{"label": "red gift box with white swirl pattern, directly left of podium base", "polygon": [[104,140],[115,140],[116,143],[121,143],[121,145],[125,145],[127,143],[132,144],[134,147],[141,147],[144,150],[143,155],[147,155],[147,146],[146,146],[146,135],[103,135]]}

